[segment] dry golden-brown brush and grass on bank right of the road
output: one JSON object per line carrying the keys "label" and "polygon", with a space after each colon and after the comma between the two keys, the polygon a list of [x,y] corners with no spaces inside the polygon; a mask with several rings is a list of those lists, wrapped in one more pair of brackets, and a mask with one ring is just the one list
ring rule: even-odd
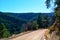
{"label": "dry golden-brown brush and grass on bank right of the road", "polygon": [[60,40],[59,24],[57,20],[48,28],[48,31],[45,32],[45,38],[46,40]]}

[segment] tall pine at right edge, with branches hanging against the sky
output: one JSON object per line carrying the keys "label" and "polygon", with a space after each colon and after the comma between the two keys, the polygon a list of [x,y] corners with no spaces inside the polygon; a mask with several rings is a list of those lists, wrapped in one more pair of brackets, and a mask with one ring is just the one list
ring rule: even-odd
{"label": "tall pine at right edge, with branches hanging against the sky", "polygon": [[[50,7],[50,2],[53,1],[53,0],[46,0],[46,5],[47,7],[49,8]],[[59,28],[59,31],[60,31],[60,0],[54,0],[54,4],[55,6],[57,5],[57,7],[54,7],[54,12],[55,12],[55,20],[57,20],[57,24],[58,24],[58,28]]]}

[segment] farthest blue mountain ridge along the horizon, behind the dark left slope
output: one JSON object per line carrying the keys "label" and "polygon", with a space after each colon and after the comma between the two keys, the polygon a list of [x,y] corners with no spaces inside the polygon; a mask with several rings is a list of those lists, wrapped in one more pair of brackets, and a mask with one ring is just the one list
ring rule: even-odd
{"label": "farthest blue mountain ridge along the horizon, behind the dark left slope", "polygon": [[[41,13],[41,14],[42,14],[42,16],[46,15],[46,13]],[[36,20],[39,13],[5,13],[5,15],[15,17],[15,18],[18,18],[20,20],[31,21],[34,19]],[[50,17],[52,17],[54,15],[54,13],[49,13],[48,15]]]}

